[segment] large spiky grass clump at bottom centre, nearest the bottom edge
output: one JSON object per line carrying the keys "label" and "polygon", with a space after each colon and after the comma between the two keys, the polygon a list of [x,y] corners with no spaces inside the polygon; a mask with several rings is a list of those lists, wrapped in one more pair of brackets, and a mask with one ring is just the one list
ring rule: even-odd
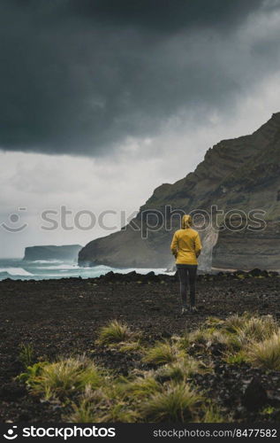
{"label": "large spiky grass clump at bottom centre, nearest the bottom edge", "polygon": [[184,383],[169,385],[155,393],[141,406],[141,415],[148,422],[191,422],[201,402],[201,396]]}

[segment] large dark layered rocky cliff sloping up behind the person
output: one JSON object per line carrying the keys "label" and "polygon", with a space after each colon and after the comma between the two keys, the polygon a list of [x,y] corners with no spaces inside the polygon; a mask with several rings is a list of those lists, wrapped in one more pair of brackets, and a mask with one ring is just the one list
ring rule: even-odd
{"label": "large dark layered rocky cliff sloping up behind the person", "polygon": [[[254,134],[223,140],[210,148],[195,171],[182,180],[156,188],[125,229],[86,245],[79,252],[79,264],[170,267],[170,240],[178,229],[179,217],[171,216],[166,208],[209,214],[211,206],[216,206],[218,213],[213,213],[212,207],[211,223],[195,217],[203,244],[200,267],[279,269],[279,165],[280,113],[276,113]],[[256,209],[264,213],[250,215]],[[147,233],[148,226],[155,226],[158,214],[163,217],[157,229],[150,228]],[[266,225],[256,229],[258,222],[250,222],[250,217],[259,217]],[[217,222],[213,225],[214,219]],[[230,222],[233,229],[228,229]],[[240,224],[238,230],[236,224]]]}

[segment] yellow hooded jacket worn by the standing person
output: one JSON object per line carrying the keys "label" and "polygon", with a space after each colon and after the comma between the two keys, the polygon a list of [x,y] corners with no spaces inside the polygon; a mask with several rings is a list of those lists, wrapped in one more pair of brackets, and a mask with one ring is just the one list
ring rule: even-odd
{"label": "yellow hooded jacket worn by the standing person", "polygon": [[181,229],[178,229],[173,236],[170,249],[178,264],[198,264],[197,257],[201,253],[201,238],[191,226],[191,215],[183,215]]}

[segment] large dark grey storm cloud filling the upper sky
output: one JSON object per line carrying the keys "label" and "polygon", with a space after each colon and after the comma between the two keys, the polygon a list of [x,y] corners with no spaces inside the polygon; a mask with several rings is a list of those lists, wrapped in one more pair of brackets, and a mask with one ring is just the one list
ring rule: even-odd
{"label": "large dark grey storm cloud filling the upper sky", "polygon": [[0,0],[0,146],[101,155],[194,104],[222,104],[238,79],[216,69],[208,45],[260,6]]}

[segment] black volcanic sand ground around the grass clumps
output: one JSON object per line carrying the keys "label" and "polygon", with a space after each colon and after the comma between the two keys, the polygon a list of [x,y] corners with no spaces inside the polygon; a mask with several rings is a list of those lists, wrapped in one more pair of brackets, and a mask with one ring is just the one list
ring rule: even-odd
{"label": "black volcanic sand ground around the grass clumps", "polygon": [[[280,320],[279,276],[240,278],[237,275],[199,276],[199,313],[181,317],[175,276],[130,276],[109,273],[95,279],[68,278],[0,283],[0,421],[61,421],[64,409],[26,392],[14,377],[23,371],[19,346],[31,344],[36,360],[95,350],[98,364],[127,375],[133,368],[148,369],[135,354],[95,346],[99,328],[112,319],[132,330],[142,330],[147,343],[196,329],[206,317],[225,318],[245,311],[274,315]],[[269,374],[246,364],[228,365],[213,349],[214,374],[197,375],[194,383],[207,389],[234,420],[280,420],[280,372]],[[250,385],[251,383],[251,385]],[[248,387],[249,386],[249,387]],[[244,393],[246,392],[246,393]],[[246,405],[246,407],[244,406]],[[266,405],[278,409],[261,415]]]}

